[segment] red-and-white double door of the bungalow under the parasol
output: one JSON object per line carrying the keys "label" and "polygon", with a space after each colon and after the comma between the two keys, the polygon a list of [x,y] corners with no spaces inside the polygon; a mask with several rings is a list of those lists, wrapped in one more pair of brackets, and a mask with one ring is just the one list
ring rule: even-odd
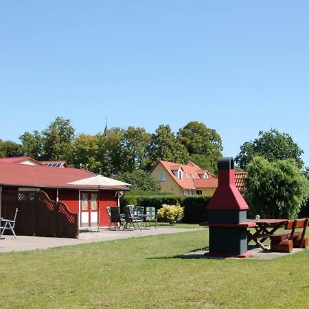
{"label": "red-and-white double door of the bungalow under the parasol", "polygon": [[81,192],[80,226],[98,226],[98,193]]}

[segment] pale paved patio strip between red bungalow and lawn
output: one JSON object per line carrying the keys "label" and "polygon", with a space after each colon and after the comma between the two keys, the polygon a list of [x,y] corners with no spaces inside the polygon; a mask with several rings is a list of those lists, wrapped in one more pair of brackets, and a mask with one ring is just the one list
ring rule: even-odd
{"label": "pale paved patio strip between red bungalow and lawn", "polygon": [[12,251],[30,251],[36,249],[49,249],[54,247],[71,246],[76,244],[87,244],[89,242],[103,242],[106,240],[117,240],[124,238],[144,237],[160,234],[183,233],[187,231],[198,231],[205,228],[186,229],[174,227],[159,227],[155,229],[131,229],[126,231],[100,229],[93,232],[82,231],[78,239],[73,238],[52,238],[52,237],[34,237],[34,236],[14,236],[4,235],[0,240],[0,253]]}

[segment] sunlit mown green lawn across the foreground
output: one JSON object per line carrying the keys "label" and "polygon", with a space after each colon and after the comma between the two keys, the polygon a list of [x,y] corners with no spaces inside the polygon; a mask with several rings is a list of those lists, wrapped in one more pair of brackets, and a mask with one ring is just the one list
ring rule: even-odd
{"label": "sunlit mown green lawn across the foreground", "polygon": [[1,308],[308,308],[309,250],[183,258],[208,230],[1,253]]}

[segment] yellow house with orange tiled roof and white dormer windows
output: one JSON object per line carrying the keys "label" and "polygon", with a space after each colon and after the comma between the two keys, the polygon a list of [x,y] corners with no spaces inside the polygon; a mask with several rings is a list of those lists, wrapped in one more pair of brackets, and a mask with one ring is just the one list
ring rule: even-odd
{"label": "yellow house with orange tiled roof and white dormer windows", "polygon": [[218,186],[216,176],[192,161],[187,164],[159,161],[150,174],[159,181],[162,192],[176,195],[212,195]]}

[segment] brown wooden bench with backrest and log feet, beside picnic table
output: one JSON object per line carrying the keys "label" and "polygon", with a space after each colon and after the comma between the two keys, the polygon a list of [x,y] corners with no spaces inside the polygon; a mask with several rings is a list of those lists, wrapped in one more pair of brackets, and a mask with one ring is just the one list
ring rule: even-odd
{"label": "brown wooden bench with backrest and log feet, beside picnic table", "polygon": [[[307,248],[308,237],[305,236],[308,226],[308,218],[288,220],[284,229],[290,230],[290,233],[273,234],[271,239],[271,251],[292,252],[293,248]],[[301,231],[295,231],[302,229]]]}

